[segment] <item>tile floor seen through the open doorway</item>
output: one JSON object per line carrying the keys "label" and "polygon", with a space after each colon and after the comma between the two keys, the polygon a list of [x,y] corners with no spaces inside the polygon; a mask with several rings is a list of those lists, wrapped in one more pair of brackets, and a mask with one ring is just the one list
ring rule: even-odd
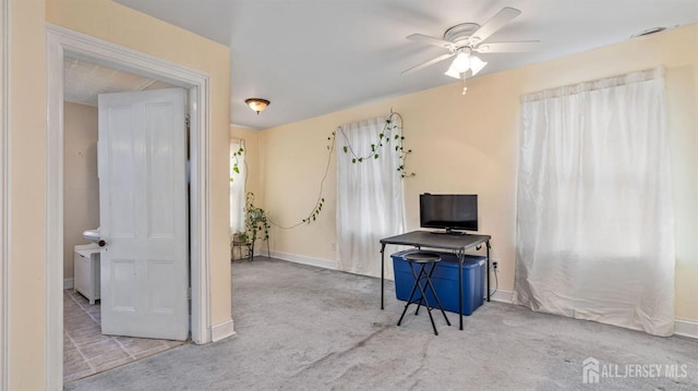
{"label": "tile floor seen through the open doorway", "polygon": [[184,344],[181,341],[103,335],[99,302],[63,291],[63,382],[81,379]]}

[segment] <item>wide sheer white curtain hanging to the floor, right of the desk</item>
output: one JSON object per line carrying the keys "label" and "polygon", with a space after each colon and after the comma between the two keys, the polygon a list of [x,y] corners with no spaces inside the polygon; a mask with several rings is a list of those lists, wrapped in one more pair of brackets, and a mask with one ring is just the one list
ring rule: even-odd
{"label": "wide sheer white curtain hanging to the floor, right of the desk", "polygon": [[522,97],[515,303],[674,331],[663,69]]}

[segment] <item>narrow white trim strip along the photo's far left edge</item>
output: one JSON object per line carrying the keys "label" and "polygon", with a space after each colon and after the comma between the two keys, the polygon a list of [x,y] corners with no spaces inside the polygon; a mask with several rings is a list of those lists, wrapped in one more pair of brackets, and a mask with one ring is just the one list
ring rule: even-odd
{"label": "narrow white trim strip along the photo's far left edge", "polygon": [[10,2],[0,0],[0,390],[10,389]]}

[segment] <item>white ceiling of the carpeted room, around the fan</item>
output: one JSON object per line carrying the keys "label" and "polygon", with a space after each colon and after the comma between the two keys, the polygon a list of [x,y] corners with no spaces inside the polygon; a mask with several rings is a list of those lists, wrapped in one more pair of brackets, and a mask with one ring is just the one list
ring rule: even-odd
{"label": "white ceiling of the carpeted room, around the fan", "polygon": [[[231,49],[232,124],[266,129],[455,81],[444,53],[405,39],[522,14],[486,41],[540,40],[530,53],[483,54],[478,76],[698,23],[698,0],[116,0]],[[256,115],[244,100],[272,105]]]}

